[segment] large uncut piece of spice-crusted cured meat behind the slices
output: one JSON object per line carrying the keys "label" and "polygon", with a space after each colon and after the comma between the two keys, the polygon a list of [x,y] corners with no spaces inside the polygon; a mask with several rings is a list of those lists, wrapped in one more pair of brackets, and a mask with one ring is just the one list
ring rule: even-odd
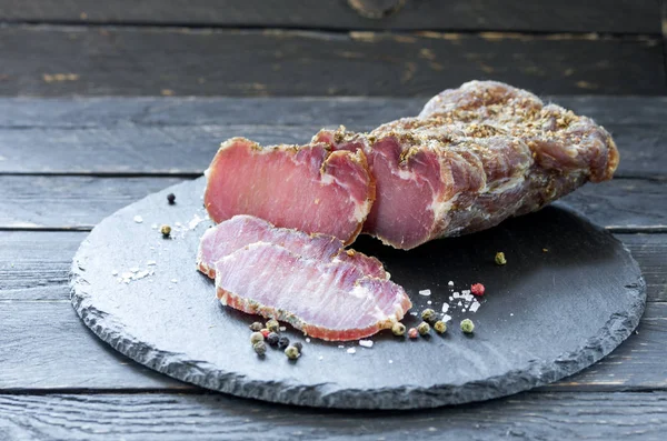
{"label": "large uncut piece of spice-crusted cured meat behind the slices", "polygon": [[366,152],[377,197],[364,231],[400,249],[538,210],[611,179],[619,160],[589,118],[494,81],[446,90],[417,118],[322,130],[312,142]]}

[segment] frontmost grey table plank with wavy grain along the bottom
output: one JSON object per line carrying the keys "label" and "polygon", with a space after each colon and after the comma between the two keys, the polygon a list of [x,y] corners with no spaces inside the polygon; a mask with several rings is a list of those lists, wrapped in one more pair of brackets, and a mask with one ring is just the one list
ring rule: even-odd
{"label": "frontmost grey table plank with wavy grain along the bottom", "polygon": [[340,412],[225,395],[0,395],[11,440],[655,440],[667,393],[522,393],[417,412]]}

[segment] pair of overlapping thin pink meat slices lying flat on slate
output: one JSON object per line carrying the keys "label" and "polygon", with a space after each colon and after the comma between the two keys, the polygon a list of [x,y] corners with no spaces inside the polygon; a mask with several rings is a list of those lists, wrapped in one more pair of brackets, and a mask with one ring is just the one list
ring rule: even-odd
{"label": "pair of overlapping thin pink meat slices lying flat on slate", "polygon": [[199,270],[222,304],[286,321],[323,340],[356,340],[391,328],[411,308],[375,258],[332,235],[236,216],[201,238]]}

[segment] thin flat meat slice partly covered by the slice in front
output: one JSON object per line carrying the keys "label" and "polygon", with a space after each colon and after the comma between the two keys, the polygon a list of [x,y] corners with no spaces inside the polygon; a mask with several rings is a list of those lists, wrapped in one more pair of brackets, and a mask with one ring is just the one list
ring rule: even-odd
{"label": "thin flat meat slice partly covered by the slice in front", "polygon": [[242,214],[209,228],[203,233],[199,242],[197,265],[201,272],[213,279],[217,261],[257,242],[282,247],[305,259],[322,262],[347,261],[359,269],[360,277],[388,279],[379,260],[354,250],[345,250],[342,241],[338,238],[277,228],[263,219]]}

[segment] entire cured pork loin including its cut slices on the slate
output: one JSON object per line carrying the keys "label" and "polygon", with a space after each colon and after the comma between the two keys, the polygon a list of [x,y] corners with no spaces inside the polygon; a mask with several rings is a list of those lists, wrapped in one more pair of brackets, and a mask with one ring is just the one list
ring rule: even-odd
{"label": "entire cured pork loin including its cut slices on the slate", "polygon": [[[270,148],[235,138],[207,171],[211,219],[251,214],[339,241],[277,229],[231,238],[225,227],[221,238],[202,240],[200,269],[216,273],[227,304],[346,339],[388,325],[409,304],[396,302],[402,290],[370,258],[344,257],[360,231],[409,250],[539,210],[586,182],[611,179],[617,166],[611,137],[593,120],[492,81],[446,90],[419,116],[370,133],[322,130],[307,146]],[[237,247],[246,234],[252,239]],[[350,297],[361,303],[346,304]],[[355,332],[327,328],[341,322]]]}

